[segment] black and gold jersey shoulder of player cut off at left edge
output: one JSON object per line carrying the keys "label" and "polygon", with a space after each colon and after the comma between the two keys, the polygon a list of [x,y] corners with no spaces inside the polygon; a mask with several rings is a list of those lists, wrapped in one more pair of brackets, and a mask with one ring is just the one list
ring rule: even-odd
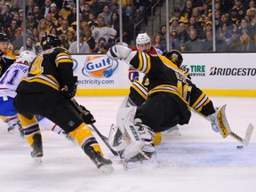
{"label": "black and gold jersey shoulder of player cut off at left edge", "polygon": [[16,56],[11,50],[7,50],[3,54],[0,54],[0,77],[16,60]]}

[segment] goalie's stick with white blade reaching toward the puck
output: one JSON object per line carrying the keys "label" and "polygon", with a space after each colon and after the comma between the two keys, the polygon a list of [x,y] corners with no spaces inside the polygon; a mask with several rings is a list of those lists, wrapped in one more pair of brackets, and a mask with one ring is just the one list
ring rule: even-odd
{"label": "goalie's stick with white blade reaching toward the puck", "polygon": [[[225,113],[226,106],[227,105],[222,106],[219,109],[219,112],[217,114],[217,118],[219,120],[218,122],[219,122],[219,126],[220,126],[220,133],[221,133],[222,137],[226,138],[228,135],[230,135],[232,138],[234,138],[238,142],[241,142],[244,146],[248,146],[249,141],[251,139],[252,132],[253,132],[253,125],[252,124],[248,125],[246,132],[245,132],[244,139],[242,137],[240,137],[239,135],[237,135],[235,132],[232,132],[231,128],[228,124],[228,120],[227,120],[226,113]],[[201,114],[199,114],[197,112],[196,112],[196,114],[202,116]],[[212,121],[209,118],[207,118],[205,116],[203,116],[203,117],[212,123]]]}

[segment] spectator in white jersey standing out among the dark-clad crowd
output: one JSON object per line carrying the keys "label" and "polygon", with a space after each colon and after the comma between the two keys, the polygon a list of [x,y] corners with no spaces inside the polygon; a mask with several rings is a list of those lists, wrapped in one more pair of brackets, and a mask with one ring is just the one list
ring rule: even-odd
{"label": "spectator in white jersey standing out among the dark-clad crowd", "polygon": [[105,24],[103,17],[98,17],[98,27],[92,30],[92,36],[95,39],[95,43],[99,43],[100,37],[104,37],[106,41],[110,44],[114,44],[116,39],[116,30],[114,28],[109,28]]}

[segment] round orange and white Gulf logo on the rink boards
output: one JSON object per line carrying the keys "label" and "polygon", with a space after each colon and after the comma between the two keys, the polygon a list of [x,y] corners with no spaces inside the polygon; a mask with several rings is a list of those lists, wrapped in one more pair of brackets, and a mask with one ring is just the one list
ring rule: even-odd
{"label": "round orange and white Gulf logo on the rink boards", "polygon": [[117,67],[117,60],[110,60],[107,56],[92,55],[85,59],[82,73],[84,76],[97,78],[110,77]]}

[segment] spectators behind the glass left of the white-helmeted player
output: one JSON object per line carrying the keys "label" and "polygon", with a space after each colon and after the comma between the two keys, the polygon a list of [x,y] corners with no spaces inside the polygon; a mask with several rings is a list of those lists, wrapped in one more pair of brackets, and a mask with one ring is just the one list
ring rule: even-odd
{"label": "spectators behind the glass left of the white-helmeted player", "polygon": [[[0,0],[0,31],[10,37],[10,49],[19,54],[24,50],[23,33],[26,25],[26,49],[41,52],[42,36],[59,36],[65,48],[77,52],[76,1],[27,0],[22,22],[23,0]],[[120,38],[119,0],[79,0],[80,53],[106,53]],[[123,41],[133,39],[133,26],[140,20],[148,24],[148,12],[156,0],[123,0]],[[23,23],[23,24],[22,24]]]}

